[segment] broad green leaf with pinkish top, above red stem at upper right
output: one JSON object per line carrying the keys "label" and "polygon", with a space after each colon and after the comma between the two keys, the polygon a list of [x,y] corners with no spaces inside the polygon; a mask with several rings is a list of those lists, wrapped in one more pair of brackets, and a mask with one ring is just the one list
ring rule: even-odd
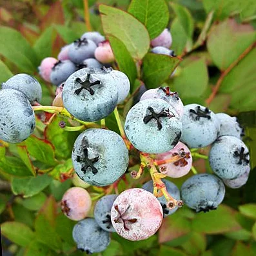
{"label": "broad green leaf with pinkish top, above red stem at upper right", "polygon": [[255,40],[253,26],[239,25],[235,19],[226,19],[212,26],[207,48],[217,67],[226,70]]}

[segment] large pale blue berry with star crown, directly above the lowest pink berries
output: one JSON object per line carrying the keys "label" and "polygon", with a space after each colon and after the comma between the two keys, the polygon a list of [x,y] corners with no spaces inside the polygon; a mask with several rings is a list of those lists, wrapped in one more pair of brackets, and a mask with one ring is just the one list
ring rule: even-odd
{"label": "large pale blue berry with star crown, directly above the lowest pink berries", "polygon": [[117,181],[128,167],[128,150],[117,133],[88,129],[74,144],[72,161],[80,179],[95,186]]}

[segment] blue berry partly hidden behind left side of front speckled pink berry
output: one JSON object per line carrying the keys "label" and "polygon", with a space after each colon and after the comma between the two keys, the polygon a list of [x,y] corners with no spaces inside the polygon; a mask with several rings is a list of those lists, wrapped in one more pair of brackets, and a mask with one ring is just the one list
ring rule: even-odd
{"label": "blue berry partly hidden behind left side of front speckled pink berry", "polygon": [[111,222],[111,208],[113,201],[117,198],[117,195],[105,195],[96,202],[94,208],[94,218],[97,224],[108,232],[115,232]]}

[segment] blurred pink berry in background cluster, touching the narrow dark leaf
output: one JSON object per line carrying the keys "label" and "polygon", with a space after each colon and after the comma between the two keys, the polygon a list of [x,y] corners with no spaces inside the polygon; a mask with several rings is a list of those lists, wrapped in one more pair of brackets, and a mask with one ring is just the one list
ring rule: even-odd
{"label": "blurred pink berry in background cluster, touching the narrow dark leaf", "polygon": [[115,57],[113,56],[112,48],[110,42],[104,41],[99,43],[99,46],[94,52],[95,58],[101,63],[111,63],[114,61]]}

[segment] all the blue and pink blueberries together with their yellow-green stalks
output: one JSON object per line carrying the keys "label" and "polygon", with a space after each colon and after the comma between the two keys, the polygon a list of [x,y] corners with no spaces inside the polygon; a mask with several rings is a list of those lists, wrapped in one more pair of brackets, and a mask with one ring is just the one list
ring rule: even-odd
{"label": "all the blue and pink blueberries together with their yellow-green stalks", "polygon": [[[152,40],[152,52],[173,57],[173,51],[168,49],[171,44],[172,36],[166,29]],[[129,94],[129,79],[123,72],[101,67],[93,57],[101,63],[113,61],[110,44],[104,37],[88,32],[64,46],[59,61],[46,58],[39,67],[46,81],[64,83],[57,88],[57,95],[61,96],[53,103],[64,106],[59,113],[79,121],[83,128],[90,127],[80,133],[72,151],[77,187],[66,191],[61,201],[63,213],[79,221],[73,230],[77,248],[86,253],[103,251],[110,243],[111,232],[131,241],[147,239],[159,230],[163,217],[175,213],[183,203],[196,212],[208,212],[224,199],[224,184],[239,188],[246,183],[250,156],[241,140],[244,131],[235,117],[215,114],[199,104],[184,106],[177,92],[166,86],[141,95],[128,111],[123,130],[116,107]],[[20,143],[33,133],[37,107],[32,105],[44,110],[39,105],[41,94],[40,84],[30,75],[18,74],[2,84],[0,139]],[[92,123],[112,112],[121,135]],[[65,128],[66,124],[59,126]],[[215,175],[197,174],[192,157],[208,159],[200,150],[208,146]],[[139,155],[141,164],[130,175],[139,179],[147,169],[152,180],[120,195],[106,193],[95,204],[94,218],[88,217],[92,198],[84,188],[117,184],[128,167],[135,166],[129,161],[131,152]],[[186,179],[181,191],[164,179],[182,177],[190,170],[195,175]]]}

